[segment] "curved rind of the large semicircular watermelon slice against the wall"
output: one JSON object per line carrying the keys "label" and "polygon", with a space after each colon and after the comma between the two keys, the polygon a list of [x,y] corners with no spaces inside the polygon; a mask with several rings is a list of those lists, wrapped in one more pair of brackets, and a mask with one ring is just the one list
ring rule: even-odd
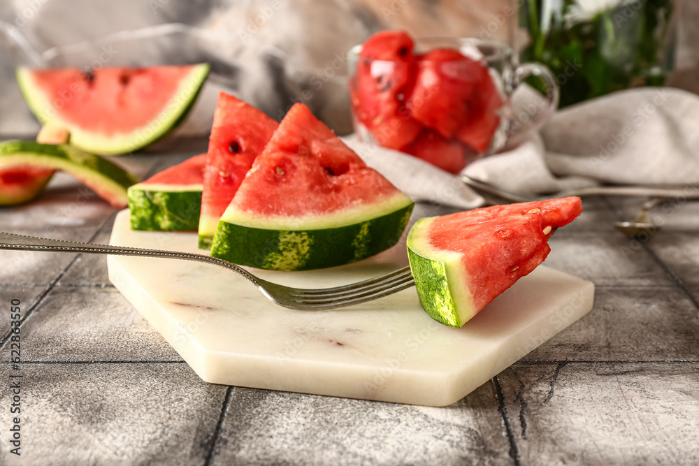
{"label": "curved rind of the large semicircular watermelon slice against the wall", "polygon": [[31,79],[31,68],[17,68],[15,76],[24,100],[27,101],[27,105],[41,124],[52,122],[57,126],[69,129],[71,145],[80,147],[82,150],[114,155],[134,152],[154,143],[175,129],[194,105],[208,72],[208,64],[194,66],[187,78],[182,80],[173,97],[164,105],[164,110],[154,120],[134,131],[117,133],[109,138],[80,129],[75,124],[64,122],[57,116],[47,117],[45,110],[52,108],[52,106],[45,94],[34,86]]}

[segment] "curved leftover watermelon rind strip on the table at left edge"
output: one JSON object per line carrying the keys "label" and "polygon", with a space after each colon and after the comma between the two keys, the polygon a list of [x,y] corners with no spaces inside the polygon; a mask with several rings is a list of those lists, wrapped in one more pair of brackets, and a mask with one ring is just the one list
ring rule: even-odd
{"label": "curved leftover watermelon rind strip on the table at left edge", "polygon": [[127,189],[140,181],[108,159],[72,145],[41,144],[31,140],[0,143],[0,170],[21,166],[63,170],[115,207],[127,205]]}

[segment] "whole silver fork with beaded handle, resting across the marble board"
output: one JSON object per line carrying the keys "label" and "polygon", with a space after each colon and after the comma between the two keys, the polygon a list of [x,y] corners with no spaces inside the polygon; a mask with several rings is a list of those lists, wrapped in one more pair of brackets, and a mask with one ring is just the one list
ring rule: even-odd
{"label": "whole silver fork with beaded handle, resting across the marble board", "polygon": [[346,307],[366,301],[383,298],[393,293],[415,285],[410,267],[403,267],[393,272],[374,277],[363,282],[345,286],[322,289],[292,288],[255,277],[238,265],[189,252],[160,251],[158,249],[141,249],[138,247],[122,247],[111,245],[96,245],[89,242],[75,242],[37,238],[36,236],[15,235],[0,232],[0,249],[19,251],[50,251],[50,252],[80,252],[85,254],[113,254],[116,256],[161,257],[166,259],[184,259],[219,265],[233,272],[238,272],[257,286],[259,291],[273,303],[295,310],[325,310]]}

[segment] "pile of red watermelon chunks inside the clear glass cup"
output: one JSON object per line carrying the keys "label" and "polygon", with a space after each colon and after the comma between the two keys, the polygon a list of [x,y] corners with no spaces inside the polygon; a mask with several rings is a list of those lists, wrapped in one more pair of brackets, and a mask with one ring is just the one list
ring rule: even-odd
{"label": "pile of red watermelon chunks inside the clear glass cup", "polygon": [[[466,166],[489,150],[500,126],[503,98],[488,65],[453,48],[415,54],[414,43],[403,31],[381,31],[363,44],[356,73],[350,82],[356,121],[384,147],[425,154],[426,161],[456,172],[452,160],[463,143]],[[433,129],[449,141],[438,154],[426,147],[424,131]],[[420,136],[419,136],[420,135]],[[416,148],[417,147],[417,148]],[[412,151],[412,152],[411,152]]]}

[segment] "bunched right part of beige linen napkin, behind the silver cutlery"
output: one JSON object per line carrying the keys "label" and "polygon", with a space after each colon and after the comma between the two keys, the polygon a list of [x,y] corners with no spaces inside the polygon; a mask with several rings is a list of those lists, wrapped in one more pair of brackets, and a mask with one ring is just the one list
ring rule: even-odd
{"label": "bunched right part of beige linen napkin, behind the silver cutlery", "polygon": [[699,96],[647,87],[572,105],[524,143],[463,173],[533,193],[596,184],[699,184]]}

